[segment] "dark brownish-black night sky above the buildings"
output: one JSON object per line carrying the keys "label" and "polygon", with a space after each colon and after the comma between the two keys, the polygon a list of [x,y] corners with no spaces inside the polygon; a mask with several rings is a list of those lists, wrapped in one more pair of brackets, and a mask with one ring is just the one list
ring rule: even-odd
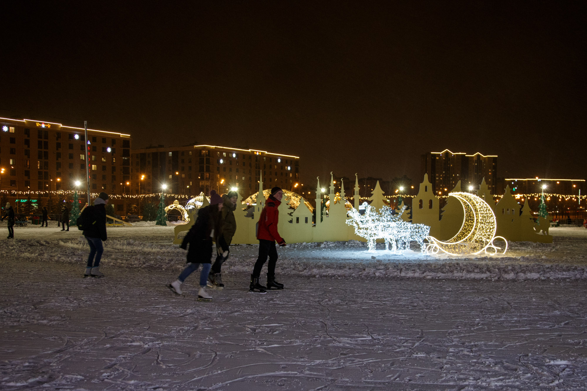
{"label": "dark brownish-black night sky above the buildings", "polygon": [[445,148],[587,178],[582,1],[6,3],[2,117],[298,155],[306,186]]}

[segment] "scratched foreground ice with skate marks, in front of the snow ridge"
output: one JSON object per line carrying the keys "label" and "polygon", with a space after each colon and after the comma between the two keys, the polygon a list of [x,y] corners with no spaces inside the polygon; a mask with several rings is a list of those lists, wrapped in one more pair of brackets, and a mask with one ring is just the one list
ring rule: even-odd
{"label": "scratched foreground ice with skate marks, in front of the snow ridge", "polygon": [[[0,389],[581,389],[581,281],[286,278],[214,301],[169,272],[0,264]],[[578,300],[579,301],[579,300]]]}

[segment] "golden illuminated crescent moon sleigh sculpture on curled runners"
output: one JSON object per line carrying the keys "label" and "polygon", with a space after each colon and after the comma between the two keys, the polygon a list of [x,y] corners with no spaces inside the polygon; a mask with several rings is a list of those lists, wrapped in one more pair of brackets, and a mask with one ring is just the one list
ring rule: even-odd
{"label": "golden illuminated crescent moon sleigh sculpture on curled runners", "polygon": [[[505,254],[508,242],[504,237],[495,236],[497,224],[491,207],[480,197],[471,193],[455,192],[449,196],[457,198],[463,205],[465,218],[458,233],[446,242],[428,236],[429,244],[426,247],[427,254],[437,254],[438,251],[451,255],[480,254],[487,255]],[[495,246],[495,239],[502,239],[505,247]]]}

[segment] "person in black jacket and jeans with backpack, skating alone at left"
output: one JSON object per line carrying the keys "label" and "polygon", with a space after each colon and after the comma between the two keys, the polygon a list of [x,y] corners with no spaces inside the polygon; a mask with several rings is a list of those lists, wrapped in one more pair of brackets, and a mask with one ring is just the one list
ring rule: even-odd
{"label": "person in black jacket and jeans with backpack, skating alone at left", "polygon": [[[86,229],[83,231],[83,236],[86,237],[87,244],[90,245],[90,255],[87,257],[86,265],[86,277],[104,277],[104,273],[100,271],[100,259],[102,259],[102,253],[104,247],[102,241],[108,239],[106,236],[106,204],[110,197],[101,192],[98,198],[94,200],[94,206],[90,212],[93,213],[93,219],[95,223],[92,224],[92,229]],[[69,216],[68,216],[69,220]],[[96,256],[96,259],[94,259]]]}

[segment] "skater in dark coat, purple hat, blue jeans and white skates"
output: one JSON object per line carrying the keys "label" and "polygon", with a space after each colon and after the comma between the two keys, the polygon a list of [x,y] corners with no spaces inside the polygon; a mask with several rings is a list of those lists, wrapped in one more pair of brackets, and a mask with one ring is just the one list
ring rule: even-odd
{"label": "skater in dark coat, purple hat, blue jeans and white skates", "polygon": [[187,245],[190,244],[186,260],[188,266],[184,268],[184,271],[181,272],[176,281],[167,285],[174,293],[181,295],[181,284],[183,284],[185,278],[198,270],[198,267],[202,264],[198,298],[212,300],[212,296],[206,292],[205,287],[208,281],[208,274],[210,273],[212,240],[217,240],[218,236],[222,234],[220,211],[222,210],[223,203],[222,197],[214,190],[211,190],[210,205],[198,210],[198,217],[195,219],[194,225],[191,226],[188,233],[185,234],[180,246],[181,249],[186,250]]}

